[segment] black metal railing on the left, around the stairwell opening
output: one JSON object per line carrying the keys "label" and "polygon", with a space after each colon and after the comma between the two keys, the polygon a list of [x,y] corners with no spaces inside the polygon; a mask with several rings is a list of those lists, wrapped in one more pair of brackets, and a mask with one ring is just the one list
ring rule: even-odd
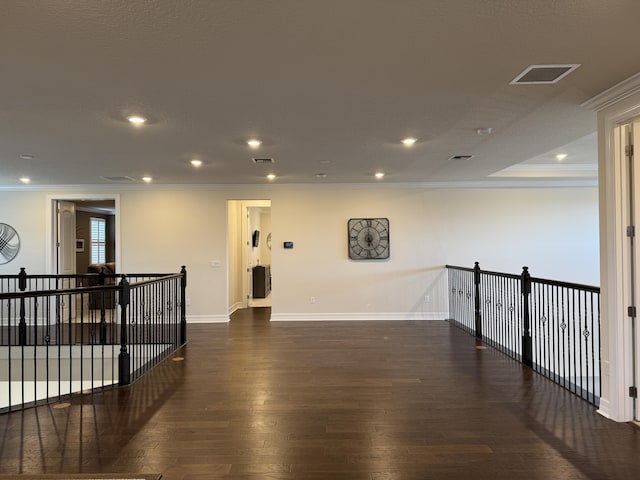
{"label": "black metal railing on the left, around the stairwell opening", "polygon": [[0,412],[135,381],[186,343],[186,278],[0,276]]}

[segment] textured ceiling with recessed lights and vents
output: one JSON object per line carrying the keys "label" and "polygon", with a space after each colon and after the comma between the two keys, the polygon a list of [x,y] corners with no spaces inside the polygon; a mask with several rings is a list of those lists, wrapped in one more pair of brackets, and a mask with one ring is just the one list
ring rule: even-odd
{"label": "textured ceiling with recessed lights and vents", "polygon": [[[0,186],[512,181],[547,174],[492,175],[565,150],[591,167],[558,175],[593,176],[581,104],[640,72],[638,19],[638,0],[5,0]],[[556,63],[581,66],[509,84]]]}

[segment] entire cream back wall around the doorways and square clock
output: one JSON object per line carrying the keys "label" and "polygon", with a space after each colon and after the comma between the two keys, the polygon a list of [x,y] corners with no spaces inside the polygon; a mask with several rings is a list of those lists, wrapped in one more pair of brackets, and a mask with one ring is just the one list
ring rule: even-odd
{"label": "entire cream back wall around the doorways and square clock", "polygon": [[[478,260],[484,269],[509,273],[528,265],[533,276],[598,284],[596,188],[344,185],[119,193],[121,271],[175,272],[186,265],[191,321],[227,318],[227,201],[238,198],[271,200],[274,319],[442,318],[447,263],[471,267]],[[0,273],[17,273],[19,266],[46,270],[45,197],[0,192],[0,221],[23,237],[18,258]],[[389,218],[388,260],[348,259],[351,217]],[[284,241],[294,248],[285,250]],[[221,267],[211,267],[212,260]]]}

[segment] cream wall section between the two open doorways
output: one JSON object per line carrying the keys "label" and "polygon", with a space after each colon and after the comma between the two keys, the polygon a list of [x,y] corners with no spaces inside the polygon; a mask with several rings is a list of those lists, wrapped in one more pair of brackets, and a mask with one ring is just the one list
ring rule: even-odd
{"label": "cream wall section between the two open doorways", "polygon": [[[121,271],[188,271],[188,314],[227,317],[227,202],[206,190],[127,191],[120,197]],[[211,266],[219,260],[220,267]]]}

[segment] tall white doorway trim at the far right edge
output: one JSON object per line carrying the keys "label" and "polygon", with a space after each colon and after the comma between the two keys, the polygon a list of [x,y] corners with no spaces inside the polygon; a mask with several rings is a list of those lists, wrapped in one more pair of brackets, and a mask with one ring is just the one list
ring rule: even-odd
{"label": "tall white doorway trim at the far right edge", "polygon": [[[633,420],[633,352],[626,300],[629,289],[627,193],[622,126],[640,117],[640,74],[603,92],[587,106],[598,112],[602,395],[598,412]],[[640,187],[640,186],[637,186]]]}

